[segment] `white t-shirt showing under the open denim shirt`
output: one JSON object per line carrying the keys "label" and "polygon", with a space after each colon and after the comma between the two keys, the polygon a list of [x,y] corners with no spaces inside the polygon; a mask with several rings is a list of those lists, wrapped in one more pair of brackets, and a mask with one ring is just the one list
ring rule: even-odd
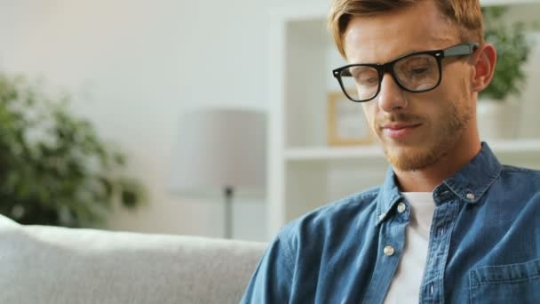
{"label": "white t-shirt showing under the open denim shirt", "polygon": [[409,226],[400,264],[386,294],[385,304],[418,303],[429,245],[435,201],[432,192],[402,192],[410,205]]}

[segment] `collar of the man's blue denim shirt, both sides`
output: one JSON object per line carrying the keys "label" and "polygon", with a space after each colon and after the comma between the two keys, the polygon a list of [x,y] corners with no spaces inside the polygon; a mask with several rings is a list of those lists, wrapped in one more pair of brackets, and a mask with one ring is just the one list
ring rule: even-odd
{"label": "collar of the man's blue denim shirt, both sides", "polygon": [[[489,186],[496,180],[502,170],[495,154],[488,144],[482,142],[480,152],[458,172],[443,180],[441,185],[433,190],[435,202],[448,196],[450,190],[456,196],[470,204],[476,204]],[[386,172],[385,182],[377,196],[377,224],[385,220],[386,214],[393,205],[401,200],[397,187],[395,173],[390,166]]]}

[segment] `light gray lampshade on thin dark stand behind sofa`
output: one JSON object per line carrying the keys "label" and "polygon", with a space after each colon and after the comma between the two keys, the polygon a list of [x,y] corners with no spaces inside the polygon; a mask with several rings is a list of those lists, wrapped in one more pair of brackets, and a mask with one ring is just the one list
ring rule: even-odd
{"label": "light gray lampshade on thin dark stand behind sofa", "polygon": [[171,187],[183,194],[259,193],[266,186],[266,115],[199,109],[182,117]]}

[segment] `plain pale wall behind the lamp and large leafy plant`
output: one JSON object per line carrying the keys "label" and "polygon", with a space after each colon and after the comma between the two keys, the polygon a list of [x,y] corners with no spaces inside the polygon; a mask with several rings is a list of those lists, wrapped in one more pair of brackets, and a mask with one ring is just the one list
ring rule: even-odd
{"label": "plain pale wall behind the lamp and large leafy plant", "polygon": [[[73,92],[74,111],[128,153],[151,200],[115,212],[111,228],[222,236],[220,197],[168,189],[179,117],[197,107],[266,109],[266,15],[286,3],[0,0],[0,68]],[[263,203],[237,201],[235,237],[266,236]]]}

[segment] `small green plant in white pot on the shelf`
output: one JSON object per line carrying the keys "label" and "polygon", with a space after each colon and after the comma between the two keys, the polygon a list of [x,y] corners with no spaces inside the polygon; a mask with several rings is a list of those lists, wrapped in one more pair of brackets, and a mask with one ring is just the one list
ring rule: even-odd
{"label": "small green plant in white pot on the shelf", "polygon": [[504,22],[507,7],[489,6],[482,12],[485,40],[494,44],[497,62],[491,83],[479,95],[480,138],[514,138],[520,108],[516,100],[511,99],[519,97],[525,87],[527,76],[523,67],[533,45],[527,37],[528,26],[524,22]]}

